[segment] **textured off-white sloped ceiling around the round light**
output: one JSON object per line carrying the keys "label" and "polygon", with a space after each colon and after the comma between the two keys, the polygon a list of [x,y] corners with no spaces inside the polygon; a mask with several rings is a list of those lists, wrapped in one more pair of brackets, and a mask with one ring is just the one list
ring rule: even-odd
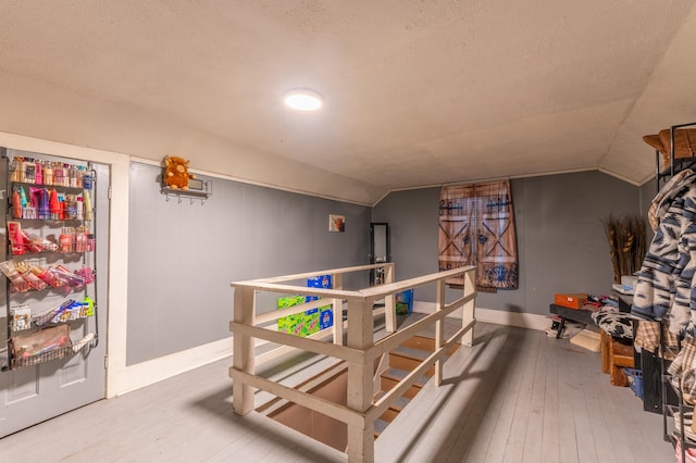
{"label": "textured off-white sloped ceiling around the round light", "polygon": [[[373,204],[655,171],[696,122],[696,0],[0,0],[0,130]],[[325,97],[294,113],[285,90]]]}

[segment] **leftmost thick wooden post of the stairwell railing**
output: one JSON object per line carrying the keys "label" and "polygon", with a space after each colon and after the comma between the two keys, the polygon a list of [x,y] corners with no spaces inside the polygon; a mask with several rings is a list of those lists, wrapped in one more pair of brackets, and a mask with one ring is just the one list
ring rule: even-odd
{"label": "leftmost thick wooden post of the stairwell railing", "polygon": [[[245,326],[253,326],[256,312],[256,292],[253,288],[235,287],[234,321]],[[235,333],[233,336],[233,366],[236,370],[254,374],[253,338]],[[253,389],[239,379],[233,380],[233,408],[236,414],[246,415],[253,410]]]}

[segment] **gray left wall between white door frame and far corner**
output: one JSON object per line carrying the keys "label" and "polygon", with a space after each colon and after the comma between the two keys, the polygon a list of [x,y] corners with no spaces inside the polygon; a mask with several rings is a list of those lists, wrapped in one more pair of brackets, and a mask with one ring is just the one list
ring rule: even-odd
{"label": "gray left wall between white door frame and far corner", "polygon": [[[178,203],[160,174],[130,165],[129,365],[231,336],[232,281],[368,263],[370,208],[217,178],[204,204]],[[345,233],[328,232],[330,213]]]}

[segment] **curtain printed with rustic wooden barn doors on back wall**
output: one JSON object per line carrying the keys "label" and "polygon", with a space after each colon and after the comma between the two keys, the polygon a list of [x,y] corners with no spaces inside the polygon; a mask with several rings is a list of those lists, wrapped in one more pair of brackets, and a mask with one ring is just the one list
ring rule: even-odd
{"label": "curtain printed with rustic wooden barn doors on back wall", "polygon": [[[478,290],[518,288],[518,252],[510,182],[443,187],[439,270],[476,265]],[[450,285],[463,285],[451,278]]]}

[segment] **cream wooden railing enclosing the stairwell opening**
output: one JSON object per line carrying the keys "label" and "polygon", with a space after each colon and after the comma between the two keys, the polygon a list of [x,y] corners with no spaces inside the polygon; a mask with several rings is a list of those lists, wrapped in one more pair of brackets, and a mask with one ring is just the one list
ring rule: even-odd
{"label": "cream wooden railing enclosing the stairwell opening", "polygon": [[[384,268],[385,284],[361,290],[341,289],[345,274],[376,268]],[[464,274],[462,297],[447,304],[445,301],[446,280],[460,274]],[[286,281],[321,275],[332,275],[332,289],[286,284]],[[374,421],[433,364],[435,365],[434,378],[436,385],[439,386],[443,380],[443,360],[446,350],[460,339],[465,346],[473,343],[476,297],[474,281],[475,267],[467,266],[395,283],[394,264],[385,263],[233,283],[232,287],[235,292],[234,318],[229,323],[229,329],[234,333],[234,356],[229,376],[234,381],[233,406],[235,413],[246,415],[251,412],[254,408],[253,388],[265,390],[346,423],[348,427],[348,461],[372,462],[374,460]],[[437,285],[435,312],[398,330],[394,303],[395,295],[428,284]],[[321,299],[257,314],[256,296],[258,291],[318,296]],[[385,330],[388,335],[375,341],[373,305],[375,301],[382,299],[385,301]],[[348,306],[347,340],[345,343],[344,323],[341,323],[344,301],[347,301]],[[271,329],[260,326],[268,325],[282,316],[328,304],[333,305],[334,312],[333,342],[325,342],[316,337],[301,338],[278,333],[274,329],[275,326],[271,326]],[[445,339],[445,317],[458,309],[462,311],[462,326],[455,335]],[[374,402],[374,360],[432,325],[435,325],[435,351],[419,367],[401,379],[394,389]],[[254,338],[345,361],[348,364],[347,405],[334,403],[257,376],[254,374]]]}

